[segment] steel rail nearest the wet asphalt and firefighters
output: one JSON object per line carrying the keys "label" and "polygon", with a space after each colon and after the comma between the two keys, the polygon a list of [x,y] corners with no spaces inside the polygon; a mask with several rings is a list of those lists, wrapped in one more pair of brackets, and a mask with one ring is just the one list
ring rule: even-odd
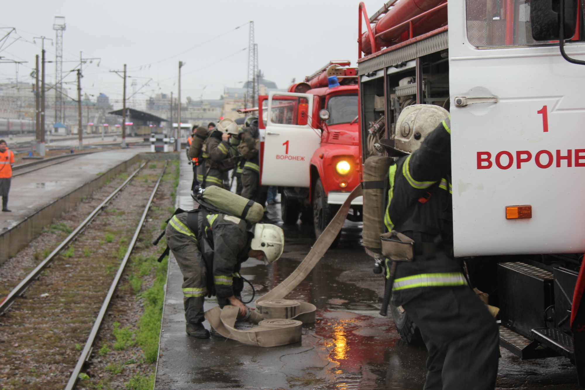
{"label": "steel rail nearest the wet asphalt and firefighters", "polygon": [[113,279],[112,284],[110,285],[110,288],[108,290],[108,294],[104,298],[104,303],[102,303],[102,307],[101,307],[101,309],[99,309],[99,314],[98,314],[97,318],[95,319],[94,327],[92,327],[92,329],[91,329],[90,337],[88,337],[87,341],[85,342],[85,347],[83,348],[83,351],[81,351],[81,355],[79,357],[79,360],[77,361],[77,364],[75,365],[75,368],[73,369],[73,372],[71,372],[71,377],[69,378],[69,382],[67,383],[65,390],[73,390],[73,388],[75,387],[75,384],[77,383],[77,379],[79,377],[81,369],[83,368],[83,365],[90,357],[91,350],[93,349],[92,345],[94,344],[94,341],[95,341],[95,336],[97,336],[97,334],[98,334],[99,327],[102,324],[102,320],[104,319],[104,316],[106,314],[106,310],[108,310],[110,300],[112,299],[113,293],[115,292],[116,287],[118,286],[118,282],[120,281],[120,278],[122,276],[122,272],[124,271],[124,268],[126,267],[126,263],[128,262],[128,259],[130,258],[130,254],[132,253],[132,250],[134,249],[134,245],[136,244],[136,240],[138,238],[138,235],[140,234],[140,230],[142,230],[142,225],[144,224],[144,220],[146,220],[146,214],[148,213],[148,211],[150,209],[150,205],[152,204],[152,200],[154,199],[154,195],[156,194],[156,191],[159,189],[160,180],[163,179],[164,171],[167,169],[167,165],[168,165],[168,162],[164,164],[163,172],[160,173],[159,180],[156,182],[154,189],[152,190],[152,193],[150,194],[150,198],[149,198],[148,202],[146,203],[146,206],[144,207],[144,211],[143,211],[142,217],[140,218],[140,221],[138,223],[138,227],[136,227],[136,231],[134,232],[132,240],[130,240],[130,244],[128,245],[128,250],[126,250],[126,255],[122,259],[122,262],[118,268],[118,272],[116,272],[116,276]]}

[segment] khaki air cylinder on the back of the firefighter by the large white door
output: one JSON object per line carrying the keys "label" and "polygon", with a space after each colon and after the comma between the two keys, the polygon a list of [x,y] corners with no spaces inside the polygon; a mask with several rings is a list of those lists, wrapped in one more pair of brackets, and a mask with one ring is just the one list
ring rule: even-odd
{"label": "khaki air cylinder on the back of the firefighter by the large white door", "polygon": [[363,243],[373,252],[374,257],[381,257],[380,234],[384,227],[386,210],[386,193],[388,191],[388,167],[394,160],[385,156],[371,156],[364,163],[363,189]]}

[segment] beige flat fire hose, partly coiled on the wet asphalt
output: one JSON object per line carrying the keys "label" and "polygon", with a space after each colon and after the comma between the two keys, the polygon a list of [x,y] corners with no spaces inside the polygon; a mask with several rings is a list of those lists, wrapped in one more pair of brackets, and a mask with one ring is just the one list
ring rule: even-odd
{"label": "beige flat fire hose, partly coiled on the wet asphalt", "polygon": [[300,341],[302,324],[315,322],[317,308],[312,303],[284,297],[307,277],[325,255],[345,223],[352,200],[362,194],[362,186],[357,186],[343,202],[301,264],[282,283],[256,300],[256,310],[250,316],[250,320],[257,322],[257,327],[247,330],[235,329],[239,309],[230,305],[224,306],[223,310],[219,306],[207,310],[205,318],[209,324],[223,337],[259,347],[276,347]]}

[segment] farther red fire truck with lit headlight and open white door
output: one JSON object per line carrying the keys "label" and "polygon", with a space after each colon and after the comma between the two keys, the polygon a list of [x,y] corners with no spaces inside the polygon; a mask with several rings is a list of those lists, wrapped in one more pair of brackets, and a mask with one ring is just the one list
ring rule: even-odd
{"label": "farther red fire truck with lit headlight and open white door", "polygon": [[[259,97],[261,184],[278,186],[285,224],[331,221],[360,183],[356,69],[331,61],[287,93]],[[362,199],[348,219],[360,221]]]}

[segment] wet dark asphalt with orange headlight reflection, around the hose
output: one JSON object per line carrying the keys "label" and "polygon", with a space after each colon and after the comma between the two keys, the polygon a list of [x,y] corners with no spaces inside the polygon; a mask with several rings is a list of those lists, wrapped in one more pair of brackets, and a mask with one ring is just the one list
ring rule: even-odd
{"label": "wet dark asphalt with orange headlight reflection, around the hose", "polygon": [[[270,206],[270,211],[276,217],[280,206]],[[243,264],[240,273],[256,288],[254,299],[286,278],[314,242],[312,227],[283,228],[287,242],[279,261],[264,266],[250,259]],[[287,296],[316,305],[317,321],[304,326],[300,343],[281,347],[186,336],[181,275],[171,265],[155,388],[422,389],[426,349],[406,345],[391,318],[378,314],[383,280],[371,271],[360,231],[359,224],[346,223],[339,246],[329,249]],[[243,299],[251,294],[246,286]],[[216,302],[209,299],[205,305],[207,310]],[[209,329],[207,321],[205,326]],[[565,358],[519,361],[503,349],[502,355],[497,388],[578,389],[576,372]]]}

